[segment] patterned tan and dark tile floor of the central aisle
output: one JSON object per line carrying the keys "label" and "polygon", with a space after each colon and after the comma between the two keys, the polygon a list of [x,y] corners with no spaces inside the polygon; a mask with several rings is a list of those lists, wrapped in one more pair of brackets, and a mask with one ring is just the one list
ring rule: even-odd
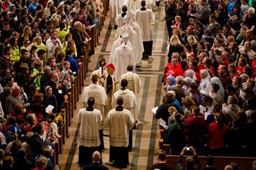
{"label": "patterned tan and dark tile floor of the central aisle", "polygon": [[[139,93],[138,103],[140,117],[137,130],[133,131],[133,152],[129,152],[130,165],[127,169],[149,169],[153,163],[157,162],[158,152],[158,121],[154,118],[151,109],[160,105],[160,97],[162,96],[162,69],[167,63],[167,31],[165,27],[164,5],[154,10],[156,16],[155,22],[152,23],[154,29],[154,44],[153,54],[149,60],[143,61],[141,68],[137,69],[142,82],[141,91]],[[110,19],[111,12],[108,12],[104,27],[100,35],[100,43],[102,46],[97,46],[96,53],[91,56],[89,63],[89,73],[85,80],[86,86],[89,84],[89,76],[91,72],[98,68],[98,59],[106,58],[109,60],[112,44],[115,38],[115,29],[113,29],[113,19]],[[80,97],[81,98],[81,97]],[[76,143],[78,133],[78,120],[76,115],[83,107],[81,99],[77,103],[72,125],[69,129],[70,138],[66,139],[66,144],[63,145],[63,154],[59,156],[59,166],[61,169],[80,169],[77,165],[79,146]],[[103,163],[109,161],[109,138],[104,137],[104,146],[106,150],[102,152]],[[109,167],[109,169],[115,169]]]}

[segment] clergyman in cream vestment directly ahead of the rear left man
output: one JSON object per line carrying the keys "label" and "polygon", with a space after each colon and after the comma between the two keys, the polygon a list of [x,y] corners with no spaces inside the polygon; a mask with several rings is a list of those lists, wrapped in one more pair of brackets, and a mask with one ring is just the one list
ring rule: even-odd
{"label": "clergyman in cream vestment directly ahead of the rear left man", "polygon": [[104,129],[104,118],[105,118],[104,106],[107,105],[108,103],[108,97],[106,96],[105,89],[98,84],[97,74],[91,75],[91,82],[92,83],[89,84],[89,86],[86,86],[83,89],[82,102],[86,107],[88,104],[87,100],[89,99],[89,97],[95,97],[96,99],[94,108],[100,110],[100,113],[102,114],[102,118],[103,118],[103,120],[100,122],[100,141],[101,141],[100,148],[104,149],[104,141],[103,141],[103,129]]}

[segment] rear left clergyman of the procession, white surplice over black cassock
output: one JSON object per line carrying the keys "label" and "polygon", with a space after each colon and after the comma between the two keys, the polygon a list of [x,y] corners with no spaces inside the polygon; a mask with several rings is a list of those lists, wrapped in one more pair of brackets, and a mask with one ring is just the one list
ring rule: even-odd
{"label": "rear left clergyman of the procession, white surplice over black cassock", "polygon": [[77,116],[80,124],[77,142],[79,144],[79,167],[88,165],[92,162],[91,155],[100,151],[99,124],[102,122],[100,110],[94,109],[95,99],[89,97],[88,107],[79,109]]}

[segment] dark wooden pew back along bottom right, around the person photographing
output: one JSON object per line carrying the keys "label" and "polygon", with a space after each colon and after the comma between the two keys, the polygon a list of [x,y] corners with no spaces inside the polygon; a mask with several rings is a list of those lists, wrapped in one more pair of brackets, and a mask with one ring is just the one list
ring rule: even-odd
{"label": "dark wooden pew back along bottom right, around the person photographing", "polygon": [[[186,163],[186,157],[183,157],[183,165]],[[201,164],[201,169],[205,168],[205,156],[198,156]],[[177,169],[177,160],[179,155],[167,155],[167,163],[171,165],[174,169]],[[253,161],[255,157],[231,157],[231,156],[214,156],[214,168],[215,169],[224,169],[226,165],[229,165],[232,162],[236,162],[239,166],[239,169],[252,169]]]}

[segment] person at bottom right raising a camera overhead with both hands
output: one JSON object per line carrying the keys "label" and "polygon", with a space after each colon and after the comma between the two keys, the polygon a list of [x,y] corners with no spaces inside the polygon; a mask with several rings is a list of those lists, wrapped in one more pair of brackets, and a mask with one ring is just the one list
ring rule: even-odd
{"label": "person at bottom right raising a camera overhead with both hands", "polygon": [[[183,162],[183,156],[185,154],[185,152],[190,152],[193,154],[193,157],[188,156],[186,157],[186,166],[184,166],[182,164]],[[177,169],[178,170],[184,170],[184,169],[200,169],[201,165],[200,165],[200,161],[199,158],[197,156],[197,153],[195,152],[195,149],[190,146],[186,146],[183,148],[182,153],[180,154],[179,160],[177,160]]]}

